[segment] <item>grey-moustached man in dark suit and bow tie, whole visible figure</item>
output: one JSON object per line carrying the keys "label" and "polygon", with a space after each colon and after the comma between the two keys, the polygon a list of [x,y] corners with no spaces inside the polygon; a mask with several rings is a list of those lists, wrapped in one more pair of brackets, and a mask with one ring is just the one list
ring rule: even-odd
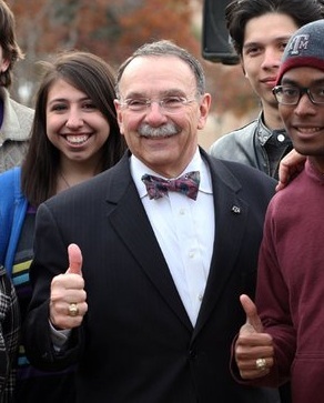
{"label": "grey-moustached man in dark suit and bow tie, whole visible figure", "polygon": [[117,77],[129,152],[38,209],[24,345],[77,365],[78,403],[279,402],[229,366],[276,181],[199,148],[210,104],[191,53],[143,44]]}

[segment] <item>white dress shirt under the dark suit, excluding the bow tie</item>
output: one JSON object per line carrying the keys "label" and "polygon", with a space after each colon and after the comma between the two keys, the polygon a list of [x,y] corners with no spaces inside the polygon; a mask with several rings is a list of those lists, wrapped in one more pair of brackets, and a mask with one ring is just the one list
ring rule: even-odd
{"label": "white dress shirt under the dark suit, excluding the bow tie", "polygon": [[204,295],[214,243],[214,203],[210,170],[198,149],[190,164],[179,175],[200,171],[196,200],[173,191],[166,197],[151,200],[141,178],[144,173],[159,174],[134,155],[131,155],[130,163],[143,206],[194,326]]}

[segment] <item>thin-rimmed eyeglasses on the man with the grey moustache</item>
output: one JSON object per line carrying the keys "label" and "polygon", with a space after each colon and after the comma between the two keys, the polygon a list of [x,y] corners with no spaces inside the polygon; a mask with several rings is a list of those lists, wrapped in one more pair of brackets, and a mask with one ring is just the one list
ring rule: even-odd
{"label": "thin-rimmed eyeglasses on the man with the grey moustache", "polygon": [[132,112],[145,112],[149,108],[151,108],[153,102],[156,102],[161,110],[165,113],[180,113],[183,111],[184,107],[191,102],[195,102],[195,98],[185,98],[185,97],[165,97],[161,100],[152,100],[146,98],[138,98],[138,99],[125,99],[124,101],[119,101],[119,104],[123,108]]}

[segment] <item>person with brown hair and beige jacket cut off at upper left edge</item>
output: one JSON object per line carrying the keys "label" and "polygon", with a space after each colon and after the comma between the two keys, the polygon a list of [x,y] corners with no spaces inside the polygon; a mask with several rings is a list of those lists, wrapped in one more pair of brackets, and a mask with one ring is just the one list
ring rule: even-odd
{"label": "person with brown hair and beige jacket cut off at upper left edge", "polygon": [[0,0],[0,172],[20,165],[27,148],[33,110],[10,98],[12,70],[23,53],[17,43],[14,16]]}

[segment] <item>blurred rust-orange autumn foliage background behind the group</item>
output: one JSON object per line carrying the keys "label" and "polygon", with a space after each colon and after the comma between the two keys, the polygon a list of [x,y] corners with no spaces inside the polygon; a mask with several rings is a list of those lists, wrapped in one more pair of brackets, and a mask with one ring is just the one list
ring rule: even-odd
{"label": "blurred rust-orange autumn foliage background behind the group", "polygon": [[[216,0],[214,0],[216,1]],[[33,104],[36,61],[65,49],[91,51],[114,69],[144,42],[171,39],[201,60],[216,113],[244,114],[255,98],[241,68],[201,57],[203,0],[8,0],[26,59],[16,66],[12,95]]]}

